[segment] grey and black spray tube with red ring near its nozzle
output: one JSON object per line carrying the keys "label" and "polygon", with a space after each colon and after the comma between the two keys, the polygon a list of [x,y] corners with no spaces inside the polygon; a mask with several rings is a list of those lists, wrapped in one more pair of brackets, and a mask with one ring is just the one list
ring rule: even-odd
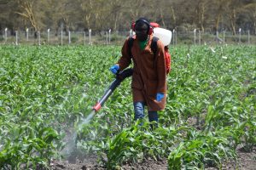
{"label": "grey and black spray tube with red ring near its nozzle", "polygon": [[116,74],[115,80],[111,83],[109,88],[106,90],[105,94],[102,96],[102,98],[96,103],[96,105],[93,106],[93,110],[99,111],[102,108],[102,105],[106,102],[108,97],[113,94],[113,91],[115,88],[117,88],[121,82],[125,80],[127,77],[131,77],[133,70],[131,68],[125,69],[124,71],[120,71]]}

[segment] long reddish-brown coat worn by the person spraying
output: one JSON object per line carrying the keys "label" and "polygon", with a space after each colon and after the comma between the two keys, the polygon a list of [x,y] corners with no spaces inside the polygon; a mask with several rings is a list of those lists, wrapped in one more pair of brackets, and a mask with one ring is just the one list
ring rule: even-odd
{"label": "long reddish-brown coat worn by the person spraying", "polygon": [[[153,36],[149,37],[148,44],[142,50],[138,40],[135,39],[131,48],[133,61],[133,75],[131,81],[133,101],[144,101],[148,105],[148,111],[160,111],[166,107],[166,64],[165,47],[157,41],[157,51],[151,50],[150,45]],[[122,48],[122,57],[117,63],[120,71],[131,64],[131,56],[128,52],[128,39]],[[156,101],[156,94],[165,94],[164,99]]]}

